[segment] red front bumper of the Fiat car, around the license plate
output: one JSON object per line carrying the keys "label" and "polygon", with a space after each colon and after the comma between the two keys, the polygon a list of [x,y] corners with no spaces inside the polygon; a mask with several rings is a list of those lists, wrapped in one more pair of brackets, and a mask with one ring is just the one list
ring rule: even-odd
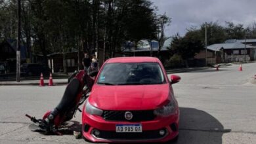
{"label": "red front bumper of the Fiat car, around the license plate", "polygon": [[[170,117],[157,117],[144,122],[106,121],[104,118],[88,115],[83,111],[83,136],[93,142],[164,142],[179,134],[179,109]],[[116,124],[142,124],[142,133],[116,133]],[[165,131],[164,134],[160,134]],[[95,134],[100,133],[99,135]]]}

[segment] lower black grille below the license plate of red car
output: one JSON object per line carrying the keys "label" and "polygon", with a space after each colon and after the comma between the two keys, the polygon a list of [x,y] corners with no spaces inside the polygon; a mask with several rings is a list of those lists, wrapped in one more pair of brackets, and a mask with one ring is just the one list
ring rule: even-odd
{"label": "lower black grille below the license plate of red car", "polygon": [[[100,139],[121,139],[121,140],[143,140],[143,139],[161,139],[165,135],[160,135],[160,130],[148,130],[141,133],[116,133],[111,131],[99,130],[100,135],[95,137]],[[167,132],[167,130],[165,130]]]}

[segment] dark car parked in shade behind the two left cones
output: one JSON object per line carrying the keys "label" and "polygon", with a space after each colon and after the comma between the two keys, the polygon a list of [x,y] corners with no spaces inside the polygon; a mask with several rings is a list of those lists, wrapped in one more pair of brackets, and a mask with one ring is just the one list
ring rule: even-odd
{"label": "dark car parked in shade behind the two left cones", "polygon": [[51,69],[47,67],[47,65],[43,65],[40,63],[23,63],[20,66],[20,73],[22,76],[32,76],[32,75],[40,75],[43,73],[43,75],[49,75],[51,72]]}

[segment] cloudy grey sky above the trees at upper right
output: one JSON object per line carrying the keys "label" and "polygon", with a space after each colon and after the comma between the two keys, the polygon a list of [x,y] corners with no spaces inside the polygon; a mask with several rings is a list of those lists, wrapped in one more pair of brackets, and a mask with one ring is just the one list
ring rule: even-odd
{"label": "cloudy grey sky above the trees at upper right", "polygon": [[225,22],[243,24],[245,27],[256,22],[255,0],[151,0],[158,7],[158,14],[171,18],[165,35],[179,33],[183,36],[186,28],[200,27],[203,22]]}

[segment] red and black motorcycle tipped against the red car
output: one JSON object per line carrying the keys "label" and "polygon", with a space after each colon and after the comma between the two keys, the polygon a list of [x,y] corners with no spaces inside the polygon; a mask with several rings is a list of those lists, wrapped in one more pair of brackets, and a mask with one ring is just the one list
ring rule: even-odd
{"label": "red and black motorcycle tipped against the red car", "polygon": [[94,83],[92,77],[95,77],[97,73],[98,71],[91,73],[83,70],[75,71],[68,79],[68,86],[66,86],[60,103],[52,111],[47,111],[41,119],[26,115],[34,122],[34,124],[30,124],[30,130],[42,134],[62,135],[58,129],[64,122],[71,120],[77,111],[81,112],[79,106],[89,97]]}

